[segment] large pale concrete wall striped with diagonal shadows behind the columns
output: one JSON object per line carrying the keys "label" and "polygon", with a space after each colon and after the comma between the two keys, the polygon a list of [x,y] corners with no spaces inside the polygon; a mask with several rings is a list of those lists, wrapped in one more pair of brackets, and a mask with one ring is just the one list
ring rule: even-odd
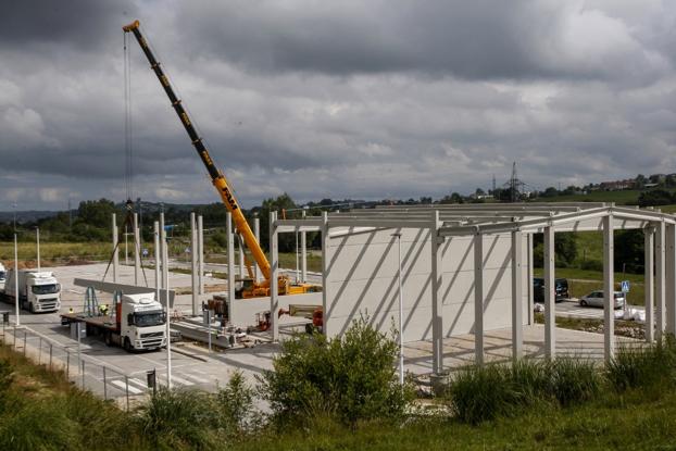
{"label": "large pale concrete wall striped with diagonal shadows behind the columns", "polygon": [[[352,320],[367,317],[383,331],[398,324],[398,247],[401,237],[404,340],[431,338],[431,243],[428,229],[385,229],[338,235],[329,239],[327,284],[330,302],[325,314],[329,337],[341,335]],[[442,314],[446,336],[474,329],[474,237],[450,237],[441,245]],[[524,240],[523,265],[527,264]],[[511,235],[484,237],[485,329],[511,325]],[[523,286],[530,283],[523,272]],[[524,318],[528,296],[524,290]],[[395,327],[396,328],[396,327]]]}

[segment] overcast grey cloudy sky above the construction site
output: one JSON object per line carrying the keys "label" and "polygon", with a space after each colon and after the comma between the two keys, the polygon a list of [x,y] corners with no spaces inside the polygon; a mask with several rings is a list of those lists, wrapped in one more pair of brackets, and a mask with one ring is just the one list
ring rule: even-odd
{"label": "overcast grey cloudy sky above the construction site", "polygon": [[[5,0],[0,210],[125,197],[122,25],[246,206],[676,172],[676,2]],[[216,195],[134,41],[134,195]]]}

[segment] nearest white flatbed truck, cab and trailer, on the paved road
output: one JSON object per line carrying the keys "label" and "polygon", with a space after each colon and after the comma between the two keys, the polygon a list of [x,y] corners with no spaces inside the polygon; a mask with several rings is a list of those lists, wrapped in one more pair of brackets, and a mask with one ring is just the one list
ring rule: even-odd
{"label": "nearest white flatbed truck, cab and trailer, on the paved road", "polygon": [[154,293],[116,295],[110,314],[64,313],[61,324],[84,324],[87,336],[102,337],[108,346],[126,351],[166,346],[166,314]]}

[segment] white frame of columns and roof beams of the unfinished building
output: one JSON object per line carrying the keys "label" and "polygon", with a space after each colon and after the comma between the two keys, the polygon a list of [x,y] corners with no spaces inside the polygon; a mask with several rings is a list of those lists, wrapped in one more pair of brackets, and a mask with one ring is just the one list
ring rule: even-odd
{"label": "white frame of columns and roof beams of the unfinished building", "polygon": [[[523,317],[521,309],[512,309],[512,349],[514,359],[523,354],[523,324],[533,324],[533,284],[523,287],[522,276],[526,280],[533,278],[533,235],[544,235],[544,278],[546,315],[544,315],[544,354],[554,358],[556,354],[555,309],[554,309],[554,242],[560,231],[602,231],[604,238],[604,321],[610,327],[604,331],[604,356],[611,359],[614,353],[614,314],[612,293],[614,291],[613,272],[613,234],[614,230],[641,229],[646,234],[646,312],[647,340],[660,339],[664,333],[676,331],[676,217],[661,213],[659,210],[616,206],[604,202],[561,202],[561,203],[508,203],[508,204],[453,204],[453,205],[396,205],[376,209],[352,210],[349,212],[323,213],[322,217],[310,216],[301,220],[279,220],[271,215],[271,265],[273,276],[271,288],[271,312],[273,337],[278,338],[276,312],[278,297],[276,293],[276,276],[279,270],[277,252],[277,235],[280,233],[320,231],[322,234],[323,259],[323,306],[325,327],[330,322],[329,305],[335,293],[327,284],[327,270],[331,261],[329,238],[355,235],[380,229],[421,229],[431,234],[431,343],[433,372],[443,372],[443,317],[441,308],[445,293],[442,287],[442,260],[440,248],[452,237],[474,237],[474,290],[475,302],[475,359],[481,363],[485,359],[483,317],[485,287],[483,238],[499,234],[509,234],[512,240],[511,267],[512,306],[521,305],[527,293],[528,317]],[[523,255],[522,243],[526,243],[527,254]],[[654,258],[654,276],[653,259]],[[524,262],[522,264],[522,262]],[[515,263],[515,264],[514,264]],[[547,283],[549,280],[549,283]],[[654,283],[654,289],[653,284]],[[404,287],[405,289],[405,287]],[[655,304],[652,304],[654,299]],[[652,318],[655,318],[654,327]]]}

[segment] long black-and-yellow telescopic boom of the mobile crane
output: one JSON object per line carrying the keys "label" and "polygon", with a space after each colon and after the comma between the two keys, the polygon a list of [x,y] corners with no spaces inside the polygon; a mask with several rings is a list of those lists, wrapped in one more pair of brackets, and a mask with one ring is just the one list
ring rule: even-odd
{"label": "long black-and-yellow telescopic boom of the mobile crane", "polygon": [[263,249],[261,249],[259,241],[255,239],[255,235],[253,235],[253,231],[251,231],[251,227],[249,227],[249,223],[247,223],[247,218],[242,214],[241,208],[239,206],[239,203],[237,202],[237,199],[235,198],[235,193],[233,192],[233,189],[230,188],[227,179],[214,164],[214,161],[209,154],[209,151],[206,150],[206,147],[204,146],[202,138],[197,134],[197,130],[192,126],[192,122],[190,121],[190,117],[188,117],[188,113],[183,108],[180,100],[176,97],[176,93],[174,92],[174,88],[170,84],[168,78],[162,71],[162,67],[160,66],[160,62],[155,59],[154,54],[152,53],[152,50],[148,46],[146,38],[143,38],[143,36],[141,35],[139,25],[140,25],[139,22],[135,21],[130,23],[129,25],[125,25],[124,27],[122,27],[122,29],[125,33],[133,33],[139,46],[141,46],[141,50],[143,51],[143,53],[146,54],[146,58],[150,62],[150,68],[153,70],[153,72],[158,76],[158,79],[160,80],[160,84],[164,88],[166,96],[170,98],[170,101],[172,102],[172,107],[174,108],[174,111],[176,111],[176,114],[178,115],[180,123],[186,128],[186,131],[188,133],[188,136],[190,137],[190,141],[192,142],[192,146],[195,147],[195,150],[197,150],[198,155],[200,156],[200,159],[202,160],[202,163],[204,164],[204,167],[206,167],[206,172],[209,173],[209,176],[211,177],[212,184],[216,188],[216,191],[218,191],[218,195],[221,196],[221,199],[223,199],[223,203],[225,203],[225,206],[233,214],[233,221],[235,222],[235,228],[237,229],[237,231],[239,231],[239,234],[245,239],[247,247],[251,251],[253,259],[255,260],[256,264],[261,268],[261,273],[263,274],[263,277],[265,277],[265,280],[268,285],[270,277],[271,277],[270,262],[267,261],[267,258],[265,256]]}

